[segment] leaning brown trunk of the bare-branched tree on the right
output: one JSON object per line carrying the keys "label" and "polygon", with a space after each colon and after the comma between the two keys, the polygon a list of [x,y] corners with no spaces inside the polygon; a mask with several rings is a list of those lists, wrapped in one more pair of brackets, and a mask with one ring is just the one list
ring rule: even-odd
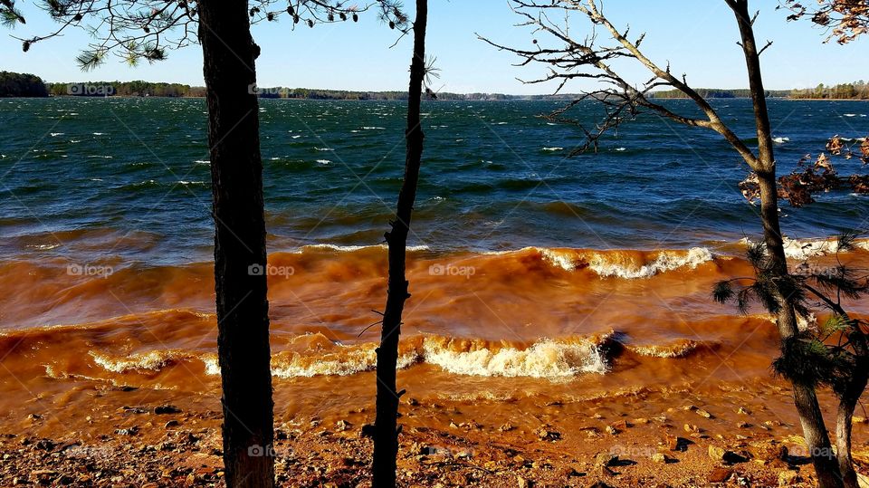
{"label": "leaning brown trunk of the bare-branched tree on the right", "polygon": [[[760,219],[763,223],[764,243],[769,253],[771,272],[788,277],[788,261],[785,256],[784,239],[778,223],[778,189],[776,187],[776,161],[772,150],[772,130],[769,127],[766,91],[760,71],[760,56],[754,39],[748,0],[727,0],[740,26],[742,51],[748,69],[751,101],[754,106],[755,125],[758,130],[758,161],[753,169],[758,174],[760,185]],[[793,297],[777,292],[781,304],[778,312],[778,333],[782,342],[797,335],[797,318]],[[822,488],[843,486],[830,437],[824,424],[824,416],[812,385],[791,378],[794,388],[794,403],[797,406],[800,424],[806,445],[815,465],[818,484]]]}

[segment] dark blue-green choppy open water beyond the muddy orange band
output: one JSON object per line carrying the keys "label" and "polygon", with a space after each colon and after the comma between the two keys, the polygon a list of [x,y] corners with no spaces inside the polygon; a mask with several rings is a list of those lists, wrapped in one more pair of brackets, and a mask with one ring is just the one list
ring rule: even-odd
{"label": "dark blue-green choppy open water beyond the muddy orange band", "polygon": [[[750,100],[713,101],[741,137],[756,140]],[[688,100],[667,103],[692,113]],[[659,249],[759,233],[757,209],[737,188],[747,167],[717,134],[650,116],[625,124],[597,154],[568,158],[582,141],[578,130],[538,117],[559,104],[425,103],[411,244],[441,251]],[[405,106],[260,106],[271,249],[380,243],[400,186]],[[591,120],[595,110],[586,109]],[[864,137],[867,112],[861,101],[770,100],[774,135],[787,138],[776,145],[779,167],[823,150],[834,134]],[[104,259],[106,249],[91,253],[66,233],[135,235],[141,246],[110,251],[125,261],[210,259],[205,117],[203,100],[0,101],[0,228],[24,249],[51,247],[49,255],[80,260]],[[860,165],[837,166],[848,173]],[[782,209],[788,235],[835,234],[863,224],[869,209],[865,197],[847,193],[819,200]]]}

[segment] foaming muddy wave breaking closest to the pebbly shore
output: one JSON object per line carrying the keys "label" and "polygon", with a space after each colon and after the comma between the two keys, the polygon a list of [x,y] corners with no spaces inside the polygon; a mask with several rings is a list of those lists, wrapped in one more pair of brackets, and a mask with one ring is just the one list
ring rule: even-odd
{"label": "foaming muddy wave breaking closest to the pebbly shore", "polygon": [[[616,349],[624,346],[635,354],[661,359],[683,359],[718,344],[681,339],[660,345],[623,345],[615,331],[591,337],[542,338],[531,343],[511,343],[416,335],[401,341],[398,369],[426,364],[448,374],[483,378],[540,378],[552,381],[577,378],[587,374],[603,375],[610,370]],[[291,340],[290,347],[272,354],[272,376],[275,378],[313,378],[351,376],[373,371],[377,367],[377,344],[373,342],[344,345],[327,339],[320,333]],[[217,356],[213,352],[195,353],[177,349],[157,349],[129,356],[89,351],[94,364],[115,374],[152,375],[181,361],[199,361],[208,376],[220,374]],[[60,378],[66,373],[53,375]],[[68,375],[70,376],[70,375]]]}

